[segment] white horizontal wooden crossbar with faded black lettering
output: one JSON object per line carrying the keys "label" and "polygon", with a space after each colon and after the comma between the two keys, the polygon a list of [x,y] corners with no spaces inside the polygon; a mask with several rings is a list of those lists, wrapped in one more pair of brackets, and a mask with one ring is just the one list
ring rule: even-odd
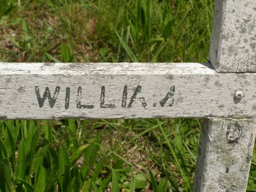
{"label": "white horizontal wooden crossbar with faded black lettering", "polygon": [[197,63],[0,63],[0,118],[255,118],[255,84]]}

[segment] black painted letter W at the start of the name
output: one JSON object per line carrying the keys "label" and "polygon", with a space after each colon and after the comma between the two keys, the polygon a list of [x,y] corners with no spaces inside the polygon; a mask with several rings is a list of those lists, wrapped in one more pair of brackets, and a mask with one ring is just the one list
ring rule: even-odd
{"label": "black painted letter W at the start of the name", "polygon": [[40,91],[39,91],[39,87],[38,87],[38,86],[35,86],[35,94],[36,94],[36,97],[37,97],[37,99],[38,99],[39,107],[42,108],[42,107],[44,106],[44,101],[45,101],[45,99],[47,98],[48,101],[49,101],[50,107],[53,108],[53,107],[54,107],[54,104],[55,104],[55,102],[56,102],[56,99],[57,99],[57,97],[58,97],[58,93],[59,93],[59,91],[60,91],[60,88],[61,88],[61,87],[59,87],[59,86],[57,86],[57,87],[55,88],[54,96],[52,97],[52,96],[51,96],[51,93],[50,93],[50,90],[49,90],[49,87],[46,87],[46,88],[45,88],[45,91],[44,91],[44,95],[43,95],[43,97],[41,97]]}

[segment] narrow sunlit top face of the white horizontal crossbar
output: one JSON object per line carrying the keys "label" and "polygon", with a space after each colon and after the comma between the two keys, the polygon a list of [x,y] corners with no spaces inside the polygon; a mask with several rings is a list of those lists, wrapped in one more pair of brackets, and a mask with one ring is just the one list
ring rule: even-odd
{"label": "narrow sunlit top face of the white horizontal crossbar", "polygon": [[215,74],[210,64],[199,63],[0,63],[1,74]]}

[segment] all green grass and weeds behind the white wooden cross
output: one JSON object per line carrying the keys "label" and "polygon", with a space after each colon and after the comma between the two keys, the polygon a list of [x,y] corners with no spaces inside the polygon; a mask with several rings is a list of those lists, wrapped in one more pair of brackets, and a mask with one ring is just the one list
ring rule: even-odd
{"label": "all green grass and weeds behind the white wooden cross", "polygon": [[[214,0],[0,0],[3,62],[207,62]],[[0,121],[0,191],[190,192],[198,119]],[[253,156],[248,191],[256,191]]]}

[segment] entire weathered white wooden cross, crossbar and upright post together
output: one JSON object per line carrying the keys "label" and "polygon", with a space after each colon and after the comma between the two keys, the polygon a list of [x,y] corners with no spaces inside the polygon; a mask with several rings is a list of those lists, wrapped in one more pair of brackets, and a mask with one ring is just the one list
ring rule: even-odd
{"label": "entire weathered white wooden cross, crossbar and upright post together", "polygon": [[0,119],[203,118],[194,192],[243,192],[256,132],[256,0],[216,0],[209,58],[0,63]]}

